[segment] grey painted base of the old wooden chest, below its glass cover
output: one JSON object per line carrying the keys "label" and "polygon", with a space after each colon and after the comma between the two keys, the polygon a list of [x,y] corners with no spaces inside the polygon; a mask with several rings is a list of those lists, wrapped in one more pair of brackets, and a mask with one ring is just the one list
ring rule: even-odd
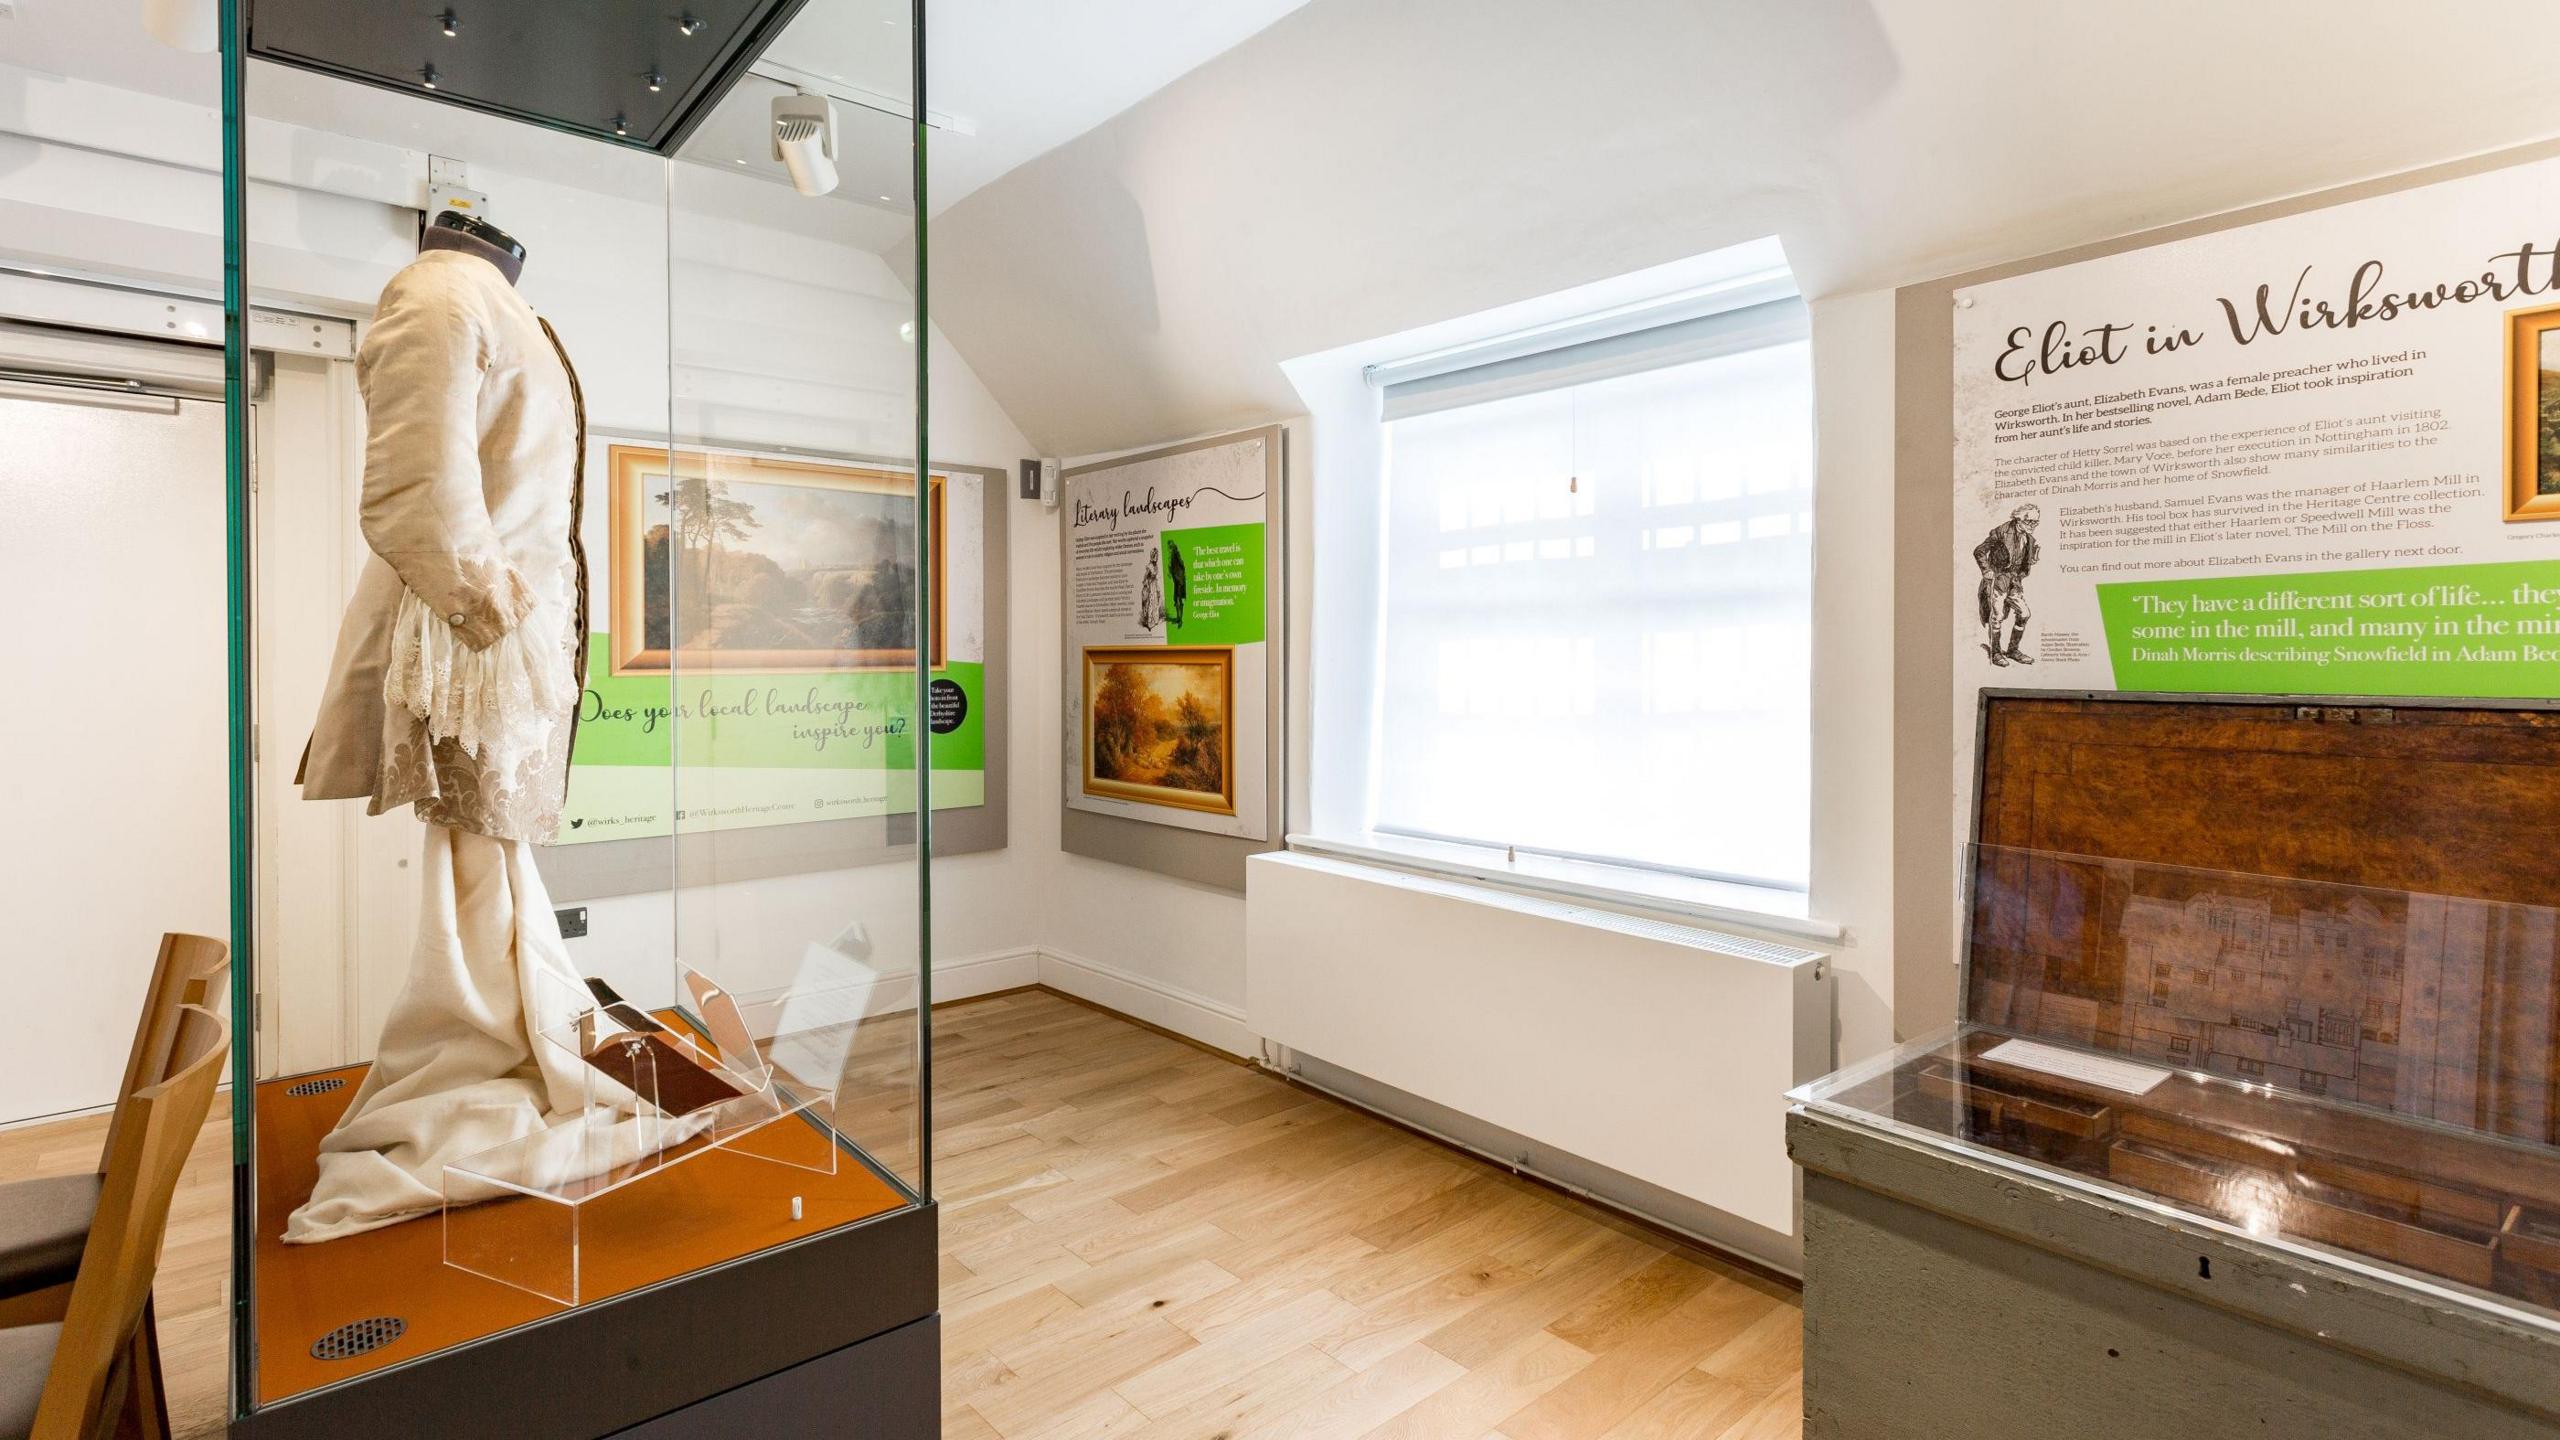
{"label": "grey painted base of the old wooden chest, below its glass cover", "polygon": [[[2404,1325],[2360,1276],[2284,1271],[1805,1115],[1792,1140],[1807,1440],[2560,1437],[2550,1409],[2483,1384],[2511,1348],[2560,1353],[2547,1340],[2463,1335],[2450,1307]],[[2074,1230],[2094,1248],[2063,1243]]]}

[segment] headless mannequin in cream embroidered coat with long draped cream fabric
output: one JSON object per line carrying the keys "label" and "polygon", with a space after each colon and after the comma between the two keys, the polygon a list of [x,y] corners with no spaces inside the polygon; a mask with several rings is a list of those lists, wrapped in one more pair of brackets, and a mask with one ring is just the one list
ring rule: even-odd
{"label": "headless mannequin in cream embroidered coat with long draped cream fabric", "polygon": [[584,994],[532,843],[558,825],[586,684],[586,415],[522,266],[497,225],[438,215],[356,356],[374,556],[297,779],[305,799],[415,807],[420,933],[287,1243],[435,1212],[443,1166],[481,1150],[553,1130],[535,1150],[609,1161],[637,1125],[630,1092],[540,1038]]}

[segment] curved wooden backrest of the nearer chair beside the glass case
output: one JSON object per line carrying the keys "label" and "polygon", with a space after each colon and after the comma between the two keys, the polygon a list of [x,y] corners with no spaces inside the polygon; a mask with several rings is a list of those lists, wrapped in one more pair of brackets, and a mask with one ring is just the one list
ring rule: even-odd
{"label": "curved wooden backrest of the nearer chair beside the glass case", "polygon": [[166,1079],[125,1094],[115,1107],[115,1148],[61,1314],[61,1343],[36,1404],[33,1440],[87,1440],[95,1432],[115,1363],[151,1299],[179,1171],[223,1081],[230,1053],[223,1017],[184,1004],[172,1020]]}

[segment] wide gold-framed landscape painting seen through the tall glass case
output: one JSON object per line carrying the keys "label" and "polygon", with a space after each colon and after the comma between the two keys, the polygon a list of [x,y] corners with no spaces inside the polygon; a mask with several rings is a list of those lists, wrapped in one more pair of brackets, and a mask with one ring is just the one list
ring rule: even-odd
{"label": "wide gold-framed landscape painting seen through the tall glass case", "polygon": [[[878,643],[860,635],[865,620],[847,618],[850,602],[865,587],[883,584],[896,594],[899,577],[893,571],[883,577],[876,559],[865,569],[863,556],[824,551],[829,543],[855,543],[852,536],[863,528],[873,528],[876,541],[893,536],[896,500],[914,495],[911,471],[724,448],[678,448],[671,456],[666,446],[635,443],[607,446],[604,471],[612,674],[655,676],[676,669],[845,674],[916,664],[911,623],[906,643]],[[950,615],[950,525],[942,479],[942,474],[929,477],[932,669],[942,669]],[[673,541],[676,505],[668,497],[686,482],[701,484],[686,507],[689,528],[699,536],[694,548],[701,553],[691,592],[709,597],[709,605],[704,620],[686,625],[686,635],[678,638],[681,594],[673,571],[686,559],[686,546]],[[870,497],[873,505],[863,505],[860,497]],[[755,530],[763,528],[755,515],[760,507],[786,512],[786,536],[773,536],[781,561],[765,553],[776,546],[755,543],[760,538]],[[722,541],[737,546],[724,553]],[[735,600],[717,594],[722,587],[735,589]],[[735,625],[742,635],[727,635],[724,625],[712,620],[724,605],[742,612]],[[824,628],[832,620],[855,633],[809,633],[812,623]],[[796,638],[806,643],[791,643]]]}

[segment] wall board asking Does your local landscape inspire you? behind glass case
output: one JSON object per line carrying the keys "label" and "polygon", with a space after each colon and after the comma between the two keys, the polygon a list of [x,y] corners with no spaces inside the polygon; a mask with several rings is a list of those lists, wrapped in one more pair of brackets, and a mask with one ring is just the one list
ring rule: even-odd
{"label": "wall board asking Does your local landscape inspire you? behind glass case", "polygon": [[[1001,471],[934,466],[919,518],[904,461],[596,436],[586,694],[543,861],[553,889],[663,887],[678,830],[791,828],[765,846],[773,869],[748,858],[758,840],[724,840],[727,876],[829,869],[837,851],[812,846],[809,825],[868,822],[842,851],[881,856],[883,817],[911,833],[919,735],[934,848],[1001,848],[1004,720],[988,679],[1001,669],[1004,607],[988,594],[1004,577],[1001,495]],[[919,523],[932,553],[922,623]],[[919,641],[932,666],[922,720]]]}

